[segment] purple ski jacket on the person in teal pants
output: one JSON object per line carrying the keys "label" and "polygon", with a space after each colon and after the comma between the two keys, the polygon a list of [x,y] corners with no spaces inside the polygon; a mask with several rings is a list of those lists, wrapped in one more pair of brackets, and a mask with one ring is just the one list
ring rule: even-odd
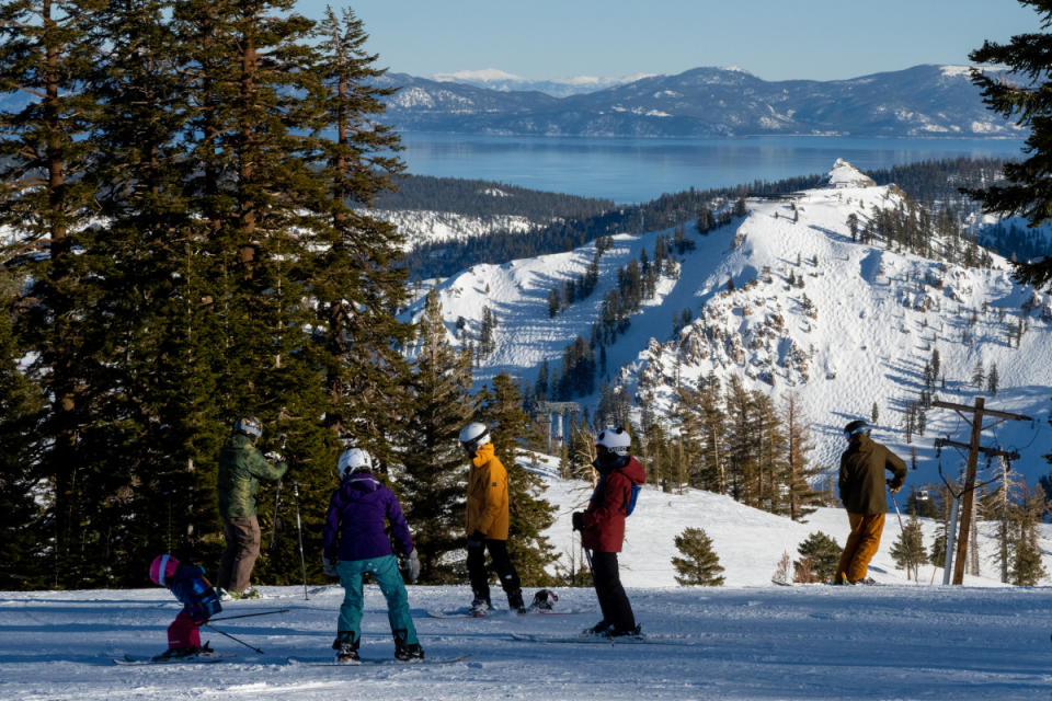
{"label": "purple ski jacket on the person in teal pants", "polygon": [[368,472],[347,475],[329,499],[322,531],[325,558],[350,562],[393,554],[385,519],[401,554],[408,555],[413,540],[395,493]]}

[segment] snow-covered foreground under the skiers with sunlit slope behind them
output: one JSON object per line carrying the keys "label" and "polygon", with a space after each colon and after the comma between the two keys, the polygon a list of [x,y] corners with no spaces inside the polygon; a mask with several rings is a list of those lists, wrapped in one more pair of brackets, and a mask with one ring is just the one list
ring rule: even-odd
{"label": "snow-covered foreground under the skiers with sunlit slope behind them", "polygon": [[[570,540],[569,512],[585,497],[586,485],[550,476],[547,482],[549,498],[560,507],[549,535],[561,547]],[[725,586],[673,584],[672,538],[686,526],[702,527],[712,537],[727,568]],[[791,524],[725,497],[647,490],[630,517],[620,555],[622,576],[643,630],[670,636],[665,642],[673,644],[512,640],[512,633],[573,635],[593,624],[599,613],[590,588],[557,589],[558,608],[573,614],[518,618],[498,612],[472,620],[426,613],[465,606],[467,586],[410,586],[414,624],[427,657],[470,655],[450,665],[288,664],[290,656],[331,656],[342,600],[339,586],[313,591],[309,599],[302,587],[262,586],[270,598],[227,604],[224,616],[289,610],[216,622],[262,654],[204,629],[213,647],[238,657],[192,667],[122,667],[112,662],[124,654],[163,650],[164,630],[179,610],[163,589],[0,593],[0,699],[1047,698],[1052,683],[1052,588],[1000,587],[986,578],[969,578],[964,587],[907,584],[887,555],[897,535],[893,520],[871,570],[881,586],[773,585],[777,558],[785,549],[794,554],[797,542],[813,530],[843,542],[846,518],[828,509],[810,524]],[[1042,536],[1049,552],[1049,526]],[[1045,566],[1052,564],[1048,558]],[[923,570],[925,584],[928,576]],[[499,594],[494,590],[498,605]],[[368,585],[362,654],[389,659],[392,653],[384,598]]]}

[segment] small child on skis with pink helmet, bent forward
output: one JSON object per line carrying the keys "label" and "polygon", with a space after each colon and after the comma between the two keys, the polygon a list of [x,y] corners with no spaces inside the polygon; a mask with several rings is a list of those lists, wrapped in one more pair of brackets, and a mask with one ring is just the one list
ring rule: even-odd
{"label": "small child on skis with pink helmet, bent forward", "polygon": [[198,565],[181,565],[171,555],[158,555],[150,564],[153,584],[168,587],[183,605],[172,624],[168,627],[168,650],[155,655],[155,660],[207,656],[211,648],[201,644],[201,627],[222,610],[219,595],[205,578],[205,568]]}

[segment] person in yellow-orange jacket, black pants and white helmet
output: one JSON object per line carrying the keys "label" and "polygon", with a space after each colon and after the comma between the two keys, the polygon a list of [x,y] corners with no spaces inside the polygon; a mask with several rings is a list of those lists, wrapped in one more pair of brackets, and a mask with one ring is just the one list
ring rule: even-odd
{"label": "person in yellow-orange jacket, black pants and white helmet", "polygon": [[515,565],[507,554],[508,499],[507,471],[493,453],[490,429],[485,424],[471,423],[460,432],[471,467],[468,470],[468,577],[471,581],[471,613],[485,616],[490,601],[489,571],[485,551],[489,550],[493,570],[507,596],[507,606],[525,613],[523,590]]}

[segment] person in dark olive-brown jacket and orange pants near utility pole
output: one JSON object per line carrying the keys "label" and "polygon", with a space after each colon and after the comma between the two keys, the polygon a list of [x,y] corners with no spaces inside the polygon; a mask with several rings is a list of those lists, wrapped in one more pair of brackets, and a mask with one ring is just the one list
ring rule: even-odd
{"label": "person in dark olive-brown jacket and orange pants near utility pole", "polygon": [[834,584],[864,584],[869,561],[877,554],[884,530],[888,497],[884,496],[884,470],[894,476],[887,481],[892,492],[902,489],[906,463],[869,437],[869,424],[856,420],[844,426],[847,449],[841,456],[841,502],[847,509],[851,533],[847,537]]}

